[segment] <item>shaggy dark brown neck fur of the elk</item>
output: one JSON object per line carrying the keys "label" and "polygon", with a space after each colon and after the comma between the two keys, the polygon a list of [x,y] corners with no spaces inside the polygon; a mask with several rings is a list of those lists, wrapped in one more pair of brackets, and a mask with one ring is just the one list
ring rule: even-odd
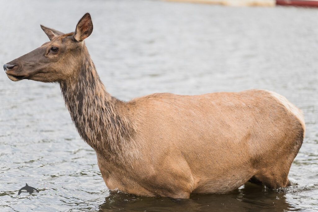
{"label": "shaggy dark brown neck fur of the elk", "polygon": [[106,92],[86,48],[83,54],[78,74],[60,82],[66,107],[79,135],[96,152],[120,154],[129,147],[135,132],[124,114],[127,105]]}

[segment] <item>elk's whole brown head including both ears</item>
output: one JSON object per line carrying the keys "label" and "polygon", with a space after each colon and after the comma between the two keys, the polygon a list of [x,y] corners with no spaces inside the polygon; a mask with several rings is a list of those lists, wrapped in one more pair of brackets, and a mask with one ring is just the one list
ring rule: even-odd
{"label": "elk's whole brown head including both ears", "polygon": [[12,81],[31,79],[41,82],[60,82],[70,78],[82,58],[83,40],[93,31],[91,17],[86,13],[76,26],[75,33],[62,32],[41,26],[50,38],[39,48],[3,65]]}

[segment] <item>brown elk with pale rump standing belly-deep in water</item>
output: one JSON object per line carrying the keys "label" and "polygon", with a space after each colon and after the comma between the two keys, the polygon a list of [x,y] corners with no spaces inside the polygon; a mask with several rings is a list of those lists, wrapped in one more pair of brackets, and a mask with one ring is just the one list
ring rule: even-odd
{"label": "brown elk with pale rump standing belly-deep in water", "polygon": [[50,41],[3,66],[13,81],[57,82],[81,138],[96,152],[110,190],[189,198],[227,193],[247,181],[287,187],[305,135],[302,112],[267,90],[187,96],[155,93],[128,102],[101,82],[84,39],[41,25]]}

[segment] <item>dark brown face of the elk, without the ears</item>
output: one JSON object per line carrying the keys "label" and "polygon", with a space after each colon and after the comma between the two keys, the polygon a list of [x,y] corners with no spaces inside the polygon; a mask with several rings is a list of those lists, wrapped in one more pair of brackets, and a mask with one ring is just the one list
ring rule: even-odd
{"label": "dark brown face of the elk, without the ears", "polygon": [[81,45],[73,41],[72,36],[57,36],[52,41],[5,64],[3,68],[12,81],[63,81],[72,74],[72,61],[75,59],[74,55],[80,53],[80,48]]}

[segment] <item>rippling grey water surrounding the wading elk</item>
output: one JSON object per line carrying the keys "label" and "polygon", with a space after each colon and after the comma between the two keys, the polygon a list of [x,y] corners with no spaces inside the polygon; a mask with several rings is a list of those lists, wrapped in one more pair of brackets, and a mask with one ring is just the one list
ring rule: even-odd
{"label": "rippling grey water surrounding the wading elk", "polygon": [[[253,184],[226,195],[171,200],[110,192],[80,139],[59,86],[0,74],[1,211],[318,210],[318,10],[232,8],[160,1],[1,1],[0,64],[70,32],[85,12],[86,45],[107,91],[129,100],[154,92],[269,89],[300,107],[306,138],[289,177],[298,186]],[[40,193],[18,190],[28,183]]]}

